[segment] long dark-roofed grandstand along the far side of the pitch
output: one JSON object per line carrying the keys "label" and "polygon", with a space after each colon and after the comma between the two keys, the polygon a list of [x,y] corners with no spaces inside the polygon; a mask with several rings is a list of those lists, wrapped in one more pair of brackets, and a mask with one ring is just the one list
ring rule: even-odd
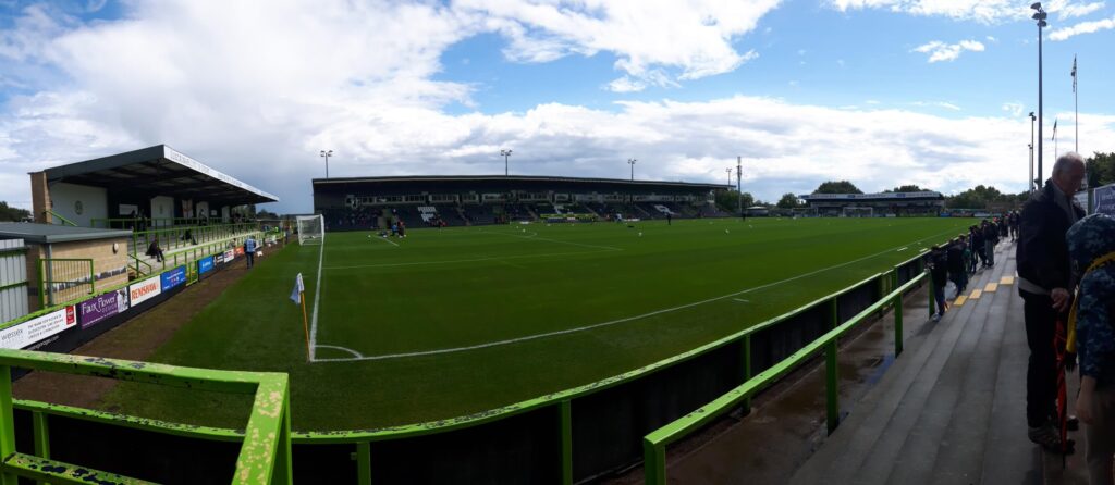
{"label": "long dark-roofed grandstand along the far side of the pitch", "polygon": [[409,176],[313,179],[313,210],[328,230],[473,226],[515,220],[723,217],[715,184],[545,176]]}

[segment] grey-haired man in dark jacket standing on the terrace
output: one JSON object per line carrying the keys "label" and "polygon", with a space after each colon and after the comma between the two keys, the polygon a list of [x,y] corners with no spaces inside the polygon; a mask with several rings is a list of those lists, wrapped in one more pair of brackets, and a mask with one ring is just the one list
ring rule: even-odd
{"label": "grey-haired man in dark jacket standing on the terrace", "polygon": [[1084,180],[1084,159],[1066,154],[1053,166],[1053,177],[1022,207],[1017,248],[1018,294],[1024,301],[1026,339],[1030,347],[1026,373],[1026,420],[1029,438],[1047,449],[1060,449],[1051,422],[1057,394],[1054,333],[1065,318],[1075,285],[1065,234],[1084,217],[1073,199]]}

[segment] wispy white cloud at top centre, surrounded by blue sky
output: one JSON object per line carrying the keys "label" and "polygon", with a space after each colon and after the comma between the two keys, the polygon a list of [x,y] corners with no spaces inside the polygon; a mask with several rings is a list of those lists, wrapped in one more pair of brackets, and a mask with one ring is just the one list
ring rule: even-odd
{"label": "wispy white cloud at top centre, surrounded by blue sky", "polygon": [[671,69],[685,80],[729,72],[754,59],[754,51],[736,52],[733,40],[755,30],[778,3],[459,0],[454,9],[485,16],[488,28],[511,40],[504,55],[512,60],[547,62],[609,51],[619,57],[615,68],[627,76]]}

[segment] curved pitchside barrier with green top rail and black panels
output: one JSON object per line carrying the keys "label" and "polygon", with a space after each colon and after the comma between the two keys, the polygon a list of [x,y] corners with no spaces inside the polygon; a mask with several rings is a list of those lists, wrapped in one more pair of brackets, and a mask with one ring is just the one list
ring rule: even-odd
{"label": "curved pitchside barrier with green top rail and black panels", "polygon": [[[924,265],[919,255],[896,266],[892,271],[874,275],[812,304],[690,352],[608,379],[497,409],[382,429],[291,433],[290,442],[294,446],[294,454],[312,456],[304,461],[300,459],[294,466],[294,473],[298,474],[298,469],[302,468],[302,474],[314,478],[311,482],[326,479],[322,478],[324,476],[322,474],[333,473],[341,478],[331,482],[360,484],[370,484],[374,478],[377,482],[408,479],[420,482],[423,479],[415,478],[415,474],[423,473],[426,473],[424,476],[435,476],[443,482],[479,479],[569,484],[599,476],[609,469],[617,469],[617,464],[638,463],[638,458],[644,456],[648,477],[653,474],[655,477],[662,476],[665,479],[665,475],[658,471],[665,465],[665,447],[668,443],[681,439],[718,413],[723,414],[733,407],[748,407],[750,397],[757,392],[822,349],[831,353],[826,354],[828,365],[834,364],[836,339],[869,315],[880,313],[886,307],[893,306],[896,315],[901,315],[901,295],[927,280],[923,271]],[[836,326],[842,319],[845,323]],[[901,336],[901,316],[896,318],[896,333]],[[901,348],[901,338],[898,338],[895,353],[900,353]],[[708,396],[705,400],[691,406],[682,404],[680,407],[670,407],[663,412],[665,414],[660,414],[660,418],[648,418],[642,412],[631,413],[620,409],[622,416],[639,422],[633,429],[628,429],[626,433],[617,432],[613,429],[614,426],[610,426],[609,419],[613,418],[614,414],[608,415],[607,409],[601,407],[601,403],[607,405],[608,402],[614,400],[617,395],[638,405],[647,404],[644,403],[647,399],[670,400],[682,392],[671,387],[669,383],[685,383],[709,373],[723,373],[725,368],[728,374],[735,376],[730,385],[723,387],[727,394],[724,392],[708,394],[708,389],[704,389],[705,393],[701,395]],[[758,374],[753,375],[755,372]],[[830,379],[835,378],[833,373],[834,369],[830,370]],[[663,376],[673,380],[662,380]],[[656,390],[650,394],[638,390],[648,387]],[[834,386],[831,386],[828,394],[830,426],[834,426],[837,409]],[[718,395],[720,397],[716,398]],[[712,404],[707,404],[710,399],[715,400]],[[198,445],[202,446],[200,449],[207,449],[204,446],[216,446],[220,443],[237,442],[244,436],[240,430],[177,425],[61,405],[16,402],[14,406],[21,413],[40,416],[33,419],[35,423],[39,420],[45,423],[47,417],[50,417],[68,420],[70,425],[76,423],[75,419],[90,423],[110,433],[113,429],[143,429],[152,434],[196,441],[202,443]],[[653,403],[650,403],[650,406],[653,407]],[[691,413],[697,408],[699,408],[697,413]],[[648,425],[650,427],[647,427]],[[518,442],[512,439],[511,445],[492,444],[493,439],[506,442],[504,435],[516,433],[518,437],[513,438]],[[605,433],[607,439],[593,439],[594,433]],[[457,438],[448,439],[449,436]],[[647,445],[648,441],[650,445]],[[204,445],[205,443],[210,445]],[[594,455],[613,448],[615,443],[622,443],[623,446],[634,449],[633,458],[622,455],[610,462],[594,459]],[[500,446],[505,447],[500,448]],[[472,468],[483,468],[483,466],[474,467],[473,463],[467,462],[475,459],[475,456],[482,458],[485,454],[491,456],[492,449],[507,449],[506,446],[512,447],[512,453],[523,454],[522,456],[526,457],[523,463],[526,464],[501,458],[494,462],[494,465],[489,463],[488,469],[477,472]],[[523,451],[524,446],[530,449]],[[650,452],[647,446],[650,447]],[[478,451],[469,454],[473,448]],[[416,449],[421,452],[415,452]],[[421,456],[414,456],[415,453]],[[398,465],[400,456],[405,457],[401,459],[404,462],[417,461],[421,466],[410,463],[400,466]],[[495,456],[503,455],[495,454]],[[432,462],[437,463],[432,465]],[[403,472],[397,469],[400,467],[404,468]],[[534,467],[537,471],[522,472],[522,468],[526,467]],[[426,468],[436,471],[428,472]],[[492,472],[493,469],[495,472]],[[510,469],[516,472],[504,473]],[[501,473],[504,474],[500,475]]]}

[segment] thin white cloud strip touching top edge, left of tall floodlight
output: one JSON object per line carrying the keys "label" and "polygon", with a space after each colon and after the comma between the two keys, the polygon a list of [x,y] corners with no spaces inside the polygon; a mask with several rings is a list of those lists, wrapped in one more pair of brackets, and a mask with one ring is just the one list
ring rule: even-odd
{"label": "thin white cloud strip touching top edge, left of tall floodlight", "polygon": [[1026,6],[1010,0],[828,0],[836,10],[885,9],[921,17],[999,23],[1029,18]]}

